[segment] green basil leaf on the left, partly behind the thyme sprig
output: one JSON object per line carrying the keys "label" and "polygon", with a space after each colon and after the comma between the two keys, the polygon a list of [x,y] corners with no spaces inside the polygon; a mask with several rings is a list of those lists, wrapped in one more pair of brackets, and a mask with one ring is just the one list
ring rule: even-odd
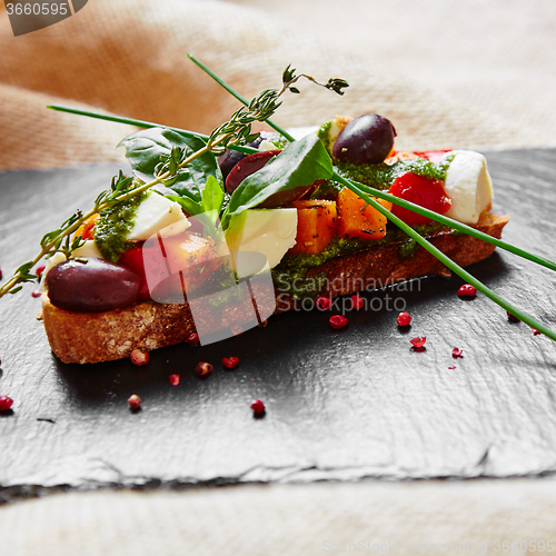
{"label": "green basil leaf on the left, partly behind the thyme sprig", "polygon": [[[133,173],[143,181],[151,181],[155,179],[155,170],[161,162],[161,157],[170,157],[172,160],[176,157],[176,147],[183,149],[186,156],[189,157],[202,149],[205,145],[202,139],[183,137],[171,129],[150,128],[126,137],[118,147],[126,147],[126,157]],[[202,189],[209,176],[212,176],[224,188],[222,173],[212,152],[201,155],[180,169],[176,175],[176,180],[167,187],[180,197],[189,197],[200,202]]]}

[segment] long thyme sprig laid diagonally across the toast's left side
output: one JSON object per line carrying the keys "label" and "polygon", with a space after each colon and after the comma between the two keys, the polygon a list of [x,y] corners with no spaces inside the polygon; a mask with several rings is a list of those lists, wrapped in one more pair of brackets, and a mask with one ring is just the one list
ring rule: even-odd
{"label": "long thyme sprig laid diagonally across the toast's left side", "polygon": [[[200,64],[202,67],[202,64],[193,57],[189,56],[189,58],[198,66]],[[241,103],[245,106],[236,110],[227,122],[215,128],[206,139],[205,147],[201,149],[190,152],[186,148],[178,146],[173,147],[170,155],[162,157],[162,160],[157,166],[155,173],[156,178],[152,181],[143,183],[140,180],[127,178],[120,170],[119,176],[112,179],[110,189],[102,191],[97,197],[95,206],[88,212],[82,214],[80,210],[77,210],[64,222],[62,222],[59,228],[49,231],[42,237],[40,241],[41,251],[32,260],[21,265],[11,278],[0,286],[0,298],[7,294],[16,294],[22,288],[22,282],[38,280],[39,276],[32,274],[31,269],[43,257],[50,258],[57,252],[63,252],[66,257],[69,258],[75,249],[83,245],[80,236],[76,236],[73,238],[71,236],[91,216],[100,214],[115,205],[125,202],[158,183],[173,183],[178,179],[178,172],[181,168],[186,167],[192,160],[205,155],[206,152],[220,155],[228,147],[239,148],[240,146],[252,141],[256,137],[258,137],[258,133],[251,132],[251,123],[255,121],[267,121],[280,107],[281,102],[279,99],[286,91],[289,90],[291,92],[299,92],[299,90],[292,87],[292,85],[301,78],[306,78],[318,86],[337,92],[338,95],[342,95],[344,92],[341,89],[348,87],[348,83],[342,79],[329,79],[327,83],[320,83],[312,77],[305,73],[296,76],[296,70],[288,66],[282,73],[281,89],[266,89],[250,102],[241,99]],[[61,107],[49,108],[57,110],[61,109]],[[79,112],[75,111],[75,113]]]}

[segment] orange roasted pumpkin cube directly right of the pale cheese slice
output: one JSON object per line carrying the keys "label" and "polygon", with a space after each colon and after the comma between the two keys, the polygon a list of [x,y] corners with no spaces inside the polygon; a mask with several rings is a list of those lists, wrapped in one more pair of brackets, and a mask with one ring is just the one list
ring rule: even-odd
{"label": "orange roasted pumpkin cube directly right of the pale cheese slice", "polygon": [[335,201],[295,201],[297,208],[297,236],[292,252],[316,255],[324,251],[336,236],[338,209]]}

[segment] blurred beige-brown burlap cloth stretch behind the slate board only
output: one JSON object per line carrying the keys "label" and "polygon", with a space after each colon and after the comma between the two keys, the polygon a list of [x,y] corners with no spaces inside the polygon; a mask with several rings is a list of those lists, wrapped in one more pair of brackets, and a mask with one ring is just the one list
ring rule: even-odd
{"label": "blurred beige-brown burlap cloth stretch behind the slate board only", "polygon": [[290,62],[351,83],[341,98],[304,85],[276,117],[284,126],[375,110],[394,121],[399,148],[556,143],[550,0],[250,3],[91,0],[18,38],[2,6],[0,170],[121,159],[129,128],[50,102],[209,131],[237,101],[187,52],[246,97],[279,86]]}

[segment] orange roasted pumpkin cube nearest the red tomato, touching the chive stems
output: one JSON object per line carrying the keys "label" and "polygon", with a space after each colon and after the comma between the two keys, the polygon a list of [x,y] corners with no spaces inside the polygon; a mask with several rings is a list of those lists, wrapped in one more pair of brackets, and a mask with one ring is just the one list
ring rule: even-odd
{"label": "orange roasted pumpkin cube nearest the red tomato, touching the chive stems", "polygon": [[[376,200],[386,209],[391,209],[391,202],[384,199]],[[338,193],[338,210],[340,217],[338,236],[374,240],[386,236],[387,218],[347,187]]]}

